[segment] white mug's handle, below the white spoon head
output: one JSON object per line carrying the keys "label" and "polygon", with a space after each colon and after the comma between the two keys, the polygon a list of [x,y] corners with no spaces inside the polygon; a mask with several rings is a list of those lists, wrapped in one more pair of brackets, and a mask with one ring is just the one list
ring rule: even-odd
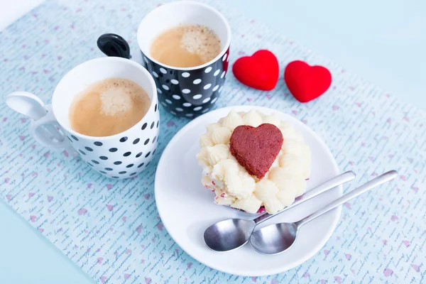
{"label": "white mug's handle, below the white spoon head", "polygon": [[[55,129],[57,123],[53,115],[52,106],[45,106],[47,114],[42,118],[33,121],[30,133],[38,143],[51,148],[70,148],[70,143],[65,139],[65,135]],[[43,127],[42,127],[43,126]]]}

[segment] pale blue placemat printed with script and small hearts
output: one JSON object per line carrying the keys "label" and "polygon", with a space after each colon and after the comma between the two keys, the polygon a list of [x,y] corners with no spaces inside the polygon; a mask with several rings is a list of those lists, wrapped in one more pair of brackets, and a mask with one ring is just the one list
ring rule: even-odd
{"label": "pale blue placemat printed with script and small hearts", "polygon": [[[72,3],[70,3],[72,2]],[[341,170],[358,173],[346,190],[397,169],[380,190],[346,203],[326,246],[301,266],[268,277],[214,271],[175,244],[153,199],[155,167],[187,120],[161,115],[155,163],[131,180],[108,180],[66,152],[35,143],[28,119],[0,104],[0,197],[98,283],[423,283],[426,265],[426,113],[271,29],[229,9],[231,63],[259,48],[283,67],[296,59],[332,70],[331,89],[300,104],[283,80],[271,92],[249,89],[229,74],[217,107],[256,104],[285,111],[314,129]],[[48,1],[0,33],[0,94],[26,90],[50,102],[60,78],[103,56],[96,40],[118,33],[137,52],[136,28],[159,1]],[[7,234],[7,233],[6,233]]]}

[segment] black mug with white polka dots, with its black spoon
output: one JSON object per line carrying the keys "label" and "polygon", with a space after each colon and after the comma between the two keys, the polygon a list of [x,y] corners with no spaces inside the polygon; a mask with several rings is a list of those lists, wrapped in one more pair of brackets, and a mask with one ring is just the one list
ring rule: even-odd
{"label": "black mug with white polka dots, with its black spoon", "polygon": [[[209,62],[195,67],[173,67],[155,60],[150,53],[153,40],[163,31],[180,25],[207,26],[221,42],[220,53]],[[105,39],[107,55],[126,56],[127,43],[117,35]],[[103,35],[104,36],[104,35]],[[148,13],[138,28],[142,64],[153,76],[160,104],[171,114],[193,118],[214,106],[222,92],[229,65],[231,29],[224,16],[211,6],[195,1],[175,1],[158,6]],[[114,44],[116,43],[116,44]],[[114,47],[111,50],[111,45]]]}

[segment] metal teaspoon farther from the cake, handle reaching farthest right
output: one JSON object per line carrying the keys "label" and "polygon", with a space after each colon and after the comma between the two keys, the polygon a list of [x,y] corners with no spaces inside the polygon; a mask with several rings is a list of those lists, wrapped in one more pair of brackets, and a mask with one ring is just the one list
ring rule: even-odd
{"label": "metal teaspoon farther from the cake, handle reaching farthest right", "polygon": [[300,227],[313,219],[320,217],[322,214],[329,212],[331,209],[338,207],[344,202],[351,200],[352,198],[361,195],[361,193],[371,190],[373,187],[383,184],[389,180],[392,180],[398,175],[396,170],[391,170],[388,173],[379,175],[377,178],[366,182],[364,185],[352,190],[346,195],[334,200],[327,206],[318,210],[317,212],[310,214],[310,216],[295,223],[280,223],[265,226],[262,229],[254,231],[250,238],[250,244],[253,246],[258,253],[262,254],[278,254],[283,253],[290,248],[297,238],[297,232]]}

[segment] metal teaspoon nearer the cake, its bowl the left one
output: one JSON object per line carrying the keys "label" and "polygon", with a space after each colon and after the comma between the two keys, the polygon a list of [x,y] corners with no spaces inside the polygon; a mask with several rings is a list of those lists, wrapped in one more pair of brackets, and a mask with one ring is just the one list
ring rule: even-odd
{"label": "metal teaspoon nearer the cake, its bowl the left one", "polygon": [[287,211],[290,208],[297,206],[306,200],[310,200],[312,197],[319,195],[322,192],[337,187],[344,182],[353,180],[355,174],[351,171],[338,175],[331,180],[323,182],[321,185],[313,188],[306,192],[300,198],[295,200],[289,207],[285,207],[283,210],[278,211],[275,214],[263,214],[255,219],[226,219],[224,221],[217,222],[209,226],[204,231],[204,242],[207,244],[209,249],[213,251],[231,251],[238,249],[249,241],[251,233],[253,233],[254,227],[263,221],[270,219],[271,217],[277,216],[280,213]]}

